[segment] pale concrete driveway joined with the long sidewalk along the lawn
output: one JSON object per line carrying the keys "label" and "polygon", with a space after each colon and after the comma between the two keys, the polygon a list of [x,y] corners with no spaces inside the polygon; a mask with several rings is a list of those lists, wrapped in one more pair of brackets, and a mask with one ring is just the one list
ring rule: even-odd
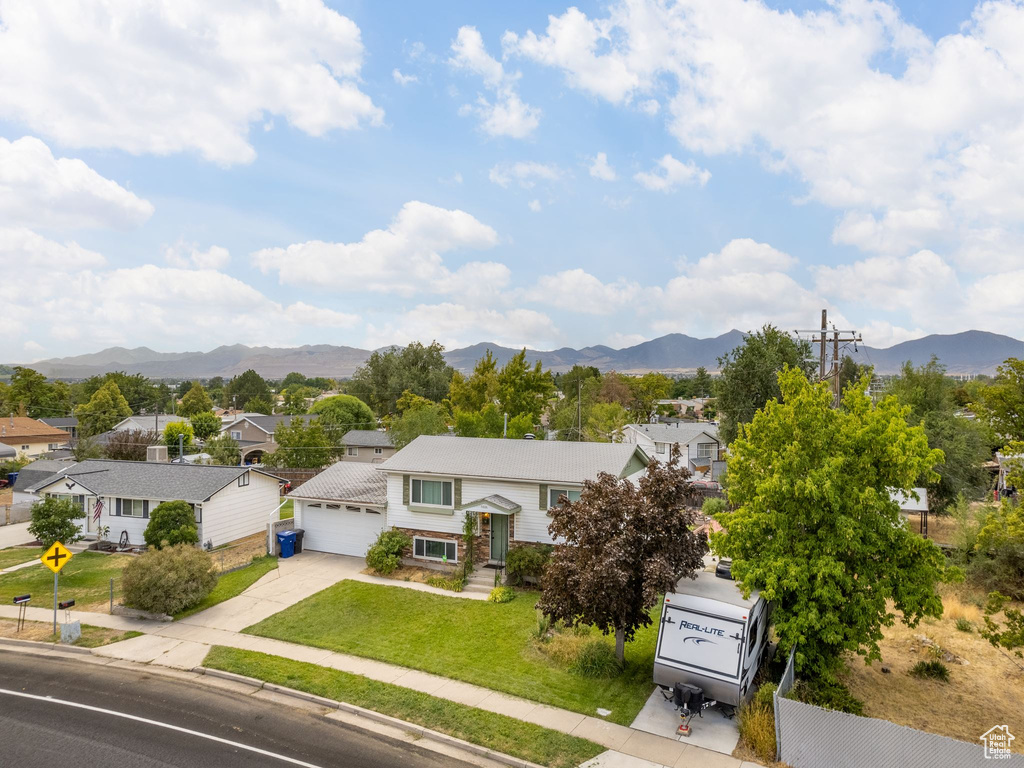
{"label": "pale concrete driveway joined with the long sidewalk along the lawn", "polygon": [[[246,627],[345,579],[439,592],[426,585],[368,577],[359,572],[362,567],[365,565],[361,558],[303,553],[280,560],[276,571],[267,573],[238,597],[179,622],[157,623],[84,611],[74,612],[72,621],[80,620],[83,624],[96,627],[145,633],[141,637],[93,649],[92,652],[99,656],[191,670],[203,665],[211,646],[224,645],[362,675],[438,698],[507,715],[590,739],[610,751],[598,756],[596,762],[590,761],[588,768],[748,768],[755,765],[741,763],[728,755],[682,743],[674,737],[609,723],[598,717],[510,696],[478,685],[360,656],[241,633]],[[442,594],[451,596],[452,593]],[[0,606],[0,616],[14,617],[16,612],[15,606]],[[52,611],[29,608],[27,618],[50,621]],[[641,762],[636,762],[638,760]]]}

